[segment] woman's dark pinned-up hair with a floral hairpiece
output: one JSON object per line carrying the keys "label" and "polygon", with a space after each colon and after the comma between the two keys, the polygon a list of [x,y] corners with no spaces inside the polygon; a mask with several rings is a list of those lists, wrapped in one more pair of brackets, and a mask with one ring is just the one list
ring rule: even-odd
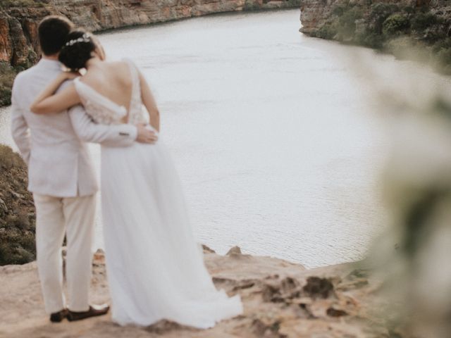
{"label": "woman's dark pinned-up hair with a floral hairpiece", "polygon": [[72,71],[86,68],[87,61],[97,48],[91,35],[85,30],[73,30],[66,37],[66,42],[59,54],[59,61]]}

